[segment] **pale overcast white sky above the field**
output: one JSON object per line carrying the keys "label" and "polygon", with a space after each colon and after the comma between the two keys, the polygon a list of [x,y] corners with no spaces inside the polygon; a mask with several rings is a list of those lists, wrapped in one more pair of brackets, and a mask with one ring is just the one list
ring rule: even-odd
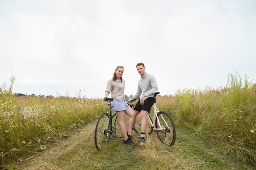
{"label": "pale overcast white sky above the field", "polygon": [[117,66],[143,62],[160,95],[256,82],[255,0],[0,0],[0,86],[97,99]]}

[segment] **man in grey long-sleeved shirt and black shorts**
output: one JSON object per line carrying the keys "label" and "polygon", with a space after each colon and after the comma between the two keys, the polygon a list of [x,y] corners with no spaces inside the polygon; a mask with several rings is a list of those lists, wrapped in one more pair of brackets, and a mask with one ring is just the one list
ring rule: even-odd
{"label": "man in grey long-sleeved shirt and black shorts", "polygon": [[[146,116],[148,113],[150,113],[150,109],[152,105],[154,104],[154,98],[153,93],[158,91],[157,87],[157,81],[155,79],[155,76],[152,74],[146,73],[146,68],[143,63],[138,63],[136,65],[137,71],[139,75],[141,75],[141,78],[138,82],[138,89],[137,93],[130,98],[127,103],[130,104],[130,101],[133,99],[137,99],[139,97],[139,102],[137,102],[134,110],[135,113],[140,117],[141,121],[141,133],[140,133],[140,139],[139,142],[141,144],[144,144],[145,142],[145,134],[146,134],[146,127],[147,127],[147,120]],[[136,121],[136,119],[135,119]],[[134,122],[135,125],[136,122]]]}

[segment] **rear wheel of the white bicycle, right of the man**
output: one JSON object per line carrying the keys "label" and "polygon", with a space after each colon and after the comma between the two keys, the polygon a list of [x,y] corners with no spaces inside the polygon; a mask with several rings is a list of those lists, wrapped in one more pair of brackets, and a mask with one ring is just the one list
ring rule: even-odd
{"label": "rear wheel of the white bicycle, right of the man", "polygon": [[158,116],[160,125],[157,123],[157,120],[155,124],[157,128],[160,128],[160,127],[163,128],[163,130],[156,131],[159,140],[165,145],[173,146],[176,138],[176,132],[175,132],[175,126],[174,126],[173,120],[171,119],[171,116],[165,111],[160,111],[157,114],[157,116]]}

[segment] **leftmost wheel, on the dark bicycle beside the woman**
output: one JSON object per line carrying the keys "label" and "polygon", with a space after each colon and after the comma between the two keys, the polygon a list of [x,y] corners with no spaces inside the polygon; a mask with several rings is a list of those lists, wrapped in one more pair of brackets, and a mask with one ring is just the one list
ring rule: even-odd
{"label": "leftmost wheel, on the dark bicycle beside the woman", "polygon": [[97,150],[104,148],[110,139],[110,134],[108,132],[109,127],[109,114],[102,113],[97,121],[94,142]]}

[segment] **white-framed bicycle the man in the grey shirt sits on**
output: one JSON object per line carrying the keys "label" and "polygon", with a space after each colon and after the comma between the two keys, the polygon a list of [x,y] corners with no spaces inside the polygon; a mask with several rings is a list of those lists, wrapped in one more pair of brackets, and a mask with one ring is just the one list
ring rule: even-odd
{"label": "white-framed bicycle the man in the grey shirt sits on", "polygon": [[[173,146],[176,139],[176,131],[175,131],[175,125],[171,118],[171,116],[166,113],[165,111],[159,111],[156,106],[157,101],[157,95],[160,92],[153,93],[154,97],[154,104],[153,104],[153,120],[151,119],[150,115],[147,114],[148,121],[150,123],[150,131],[148,132],[148,135],[152,134],[152,132],[156,132],[159,140],[167,145],[167,146]],[[135,102],[137,99],[131,101]],[[130,105],[133,106],[133,105]],[[115,115],[113,115],[114,117]],[[139,127],[140,127],[140,119],[138,118],[138,123],[135,124],[133,130],[136,133],[139,133]]]}

